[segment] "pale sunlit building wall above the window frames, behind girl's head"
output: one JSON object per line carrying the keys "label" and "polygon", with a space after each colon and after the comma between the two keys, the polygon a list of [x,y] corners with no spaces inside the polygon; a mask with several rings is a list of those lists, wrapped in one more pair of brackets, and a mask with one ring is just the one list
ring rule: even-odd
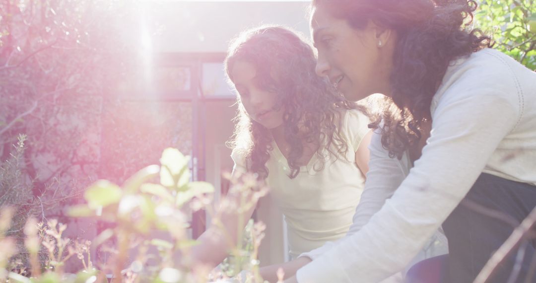
{"label": "pale sunlit building wall above the window frames, behind girl's head", "polygon": [[262,24],[285,25],[309,38],[307,1],[146,1],[142,5],[138,12],[150,28],[154,51],[225,53],[237,33]]}

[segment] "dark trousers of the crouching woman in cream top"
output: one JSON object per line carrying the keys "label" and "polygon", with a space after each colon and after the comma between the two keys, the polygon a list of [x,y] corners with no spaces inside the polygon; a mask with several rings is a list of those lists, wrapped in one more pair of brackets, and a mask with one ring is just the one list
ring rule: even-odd
{"label": "dark trousers of the crouching woman in cream top", "polygon": [[[449,255],[416,264],[408,272],[406,281],[473,282],[489,258],[512,234],[514,222],[519,225],[535,206],[534,185],[481,174],[464,200],[443,223],[449,240]],[[532,228],[532,239],[527,237],[512,250],[495,269],[488,283],[536,282],[536,274],[533,275],[536,269],[535,227]]]}

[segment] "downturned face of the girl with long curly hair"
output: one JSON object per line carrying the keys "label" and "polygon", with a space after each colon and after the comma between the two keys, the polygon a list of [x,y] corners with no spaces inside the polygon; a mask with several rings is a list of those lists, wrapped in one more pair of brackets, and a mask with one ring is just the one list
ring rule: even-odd
{"label": "downturned face of the girl with long curly hair", "polygon": [[249,117],[267,129],[283,124],[283,107],[277,108],[278,97],[273,89],[261,87],[257,68],[247,61],[236,61],[230,71],[240,101]]}

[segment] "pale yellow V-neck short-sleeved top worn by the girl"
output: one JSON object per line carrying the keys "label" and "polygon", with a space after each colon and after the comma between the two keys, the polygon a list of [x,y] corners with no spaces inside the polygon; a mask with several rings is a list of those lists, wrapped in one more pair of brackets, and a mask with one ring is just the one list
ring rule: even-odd
{"label": "pale yellow V-neck short-sleeved top worn by the girl", "polygon": [[[352,225],[364,186],[364,177],[355,163],[355,151],[369,132],[368,124],[368,117],[361,111],[346,110],[340,129],[348,145],[346,155],[330,157],[323,169],[317,171],[315,168],[321,168],[322,162],[315,154],[293,179],[288,177],[287,160],[273,142],[266,162],[269,170],[266,181],[273,203],[284,214],[292,258],[327,241],[340,239]],[[233,156],[233,159],[236,163],[239,158]]]}

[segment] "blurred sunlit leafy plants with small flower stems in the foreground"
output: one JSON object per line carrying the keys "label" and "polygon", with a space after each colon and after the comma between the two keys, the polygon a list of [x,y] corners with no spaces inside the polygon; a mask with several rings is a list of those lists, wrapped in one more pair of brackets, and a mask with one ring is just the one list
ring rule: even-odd
{"label": "blurred sunlit leafy plants with small flower stems in the foreground", "polygon": [[[193,264],[190,248],[197,244],[188,236],[188,214],[202,208],[211,209],[214,188],[206,182],[190,182],[189,159],[174,148],[162,153],[160,166],[148,166],[130,177],[121,187],[106,180],[91,185],[84,193],[86,204],[68,209],[71,217],[91,217],[113,224],[93,241],[71,241],[62,237],[66,226],[56,220],[48,224],[31,218],[24,228],[25,246],[29,252],[31,272],[25,267],[9,268],[9,259],[17,250],[5,249],[0,256],[0,280],[8,282],[106,282],[111,274],[113,282],[207,282],[210,270]],[[230,176],[229,176],[230,177]],[[240,201],[225,205],[248,209],[266,194],[251,174],[230,177],[232,190]],[[0,214],[0,247],[13,242],[5,237],[10,227],[13,209],[6,207]],[[245,220],[244,220],[245,221]],[[215,223],[218,223],[215,220]],[[257,249],[264,234],[263,224],[252,224],[245,229],[249,241],[237,241],[233,249],[234,270],[246,282],[262,282],[258,274]],[[154,232],[159,231],[159,236]],[[240,238],[244,233],[240,234]],[[234,241],[236,242],[236,241]],[[91,248],[101,247],[110,253],[107,262],[94,264]],[[44,249],[44,262],[38,259]],[[156,250],[151,252],[151,250]],[[76,256],[84,268],[76,274],[63,271],[67,259]],[[43,264],[43,265],[42,265]],[[214,279],[225,279],[226,274],[215,274]]]}

